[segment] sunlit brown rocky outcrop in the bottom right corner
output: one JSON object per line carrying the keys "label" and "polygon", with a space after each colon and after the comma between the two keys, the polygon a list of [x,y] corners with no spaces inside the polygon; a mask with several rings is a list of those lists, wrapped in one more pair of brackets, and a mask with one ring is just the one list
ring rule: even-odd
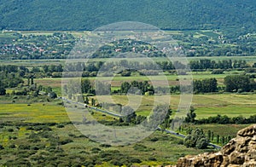
{"label": "sunlit brown rocky outcrop in the bottom right corner", "polygon": [[237,132],[218,153],[179,158],[177,167],[256,167],[256,124]]}

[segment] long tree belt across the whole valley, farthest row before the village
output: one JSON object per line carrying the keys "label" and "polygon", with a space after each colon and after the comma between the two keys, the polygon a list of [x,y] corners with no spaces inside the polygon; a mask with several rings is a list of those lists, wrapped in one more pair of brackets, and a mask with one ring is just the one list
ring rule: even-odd
{"label": "long tree belt across the whole valley, farthest row before the village", "polygon": [[[191,60],[189,62],[190,68],[195,71],[213,69],[212,74],[223,73],[225,69],[230,68],[246,68],[246,72],[256,72],[256,63],[249,66],[245,60]],[[158,75],[160,71],[168,71],[173,74],[177,73],[175,69],[183,69],[185,65],[181,62],[175,61],[157,61],[153,62],[137,62],[129,60],[120,60],[114,62],[96,61],[84,64],[84,62],[67,63],[65,66],[59,65],[44,65],[26,66],[6,65],[0,66],[0,72],[14,72],[20,77],[27,77],[35,74],[36,77],[52,77],[61,78],[64,71],[65,77],[77,76],[75,72],[82,72],[79,74],[83,78],[86,77],[112,77],[113,74],[120,74],[123,77],[131,76],[132,72],[137,72],[139,75]],[[100,71],[100,72],[99,72]],[[185,74],[185,72],[184,72]]]}

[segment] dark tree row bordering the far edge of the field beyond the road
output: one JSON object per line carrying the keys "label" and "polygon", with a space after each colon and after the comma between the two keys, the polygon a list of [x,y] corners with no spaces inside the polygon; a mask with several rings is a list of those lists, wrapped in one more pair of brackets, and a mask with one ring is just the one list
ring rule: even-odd
{"label": "dark tree row bordering the far edge of the field beyond the road", "polygon": [[[195,80],[193,84],[194,93],[212,93],[218,92],[219,90],[224,90],[226,92],[249,92],[256,89],[256,83],[253,78],[248,75],[230,75],[224,78],[225,87],[219,87],[216,78],[206,78],[202,80]],[[81,88],[81,90],[79,90]],[[148,81],[132,81],[123,82],[120,85],[120,89],[113,90],[111,92],[111,84],[103,83],[101,81],[96,81],[93,85],[88,78],[83,78],[81,80],[81,85],[79,82],[69,82],[64,86],[64,92],[68,95],[73,94],[88,94],[88,95],[111,95],[111,94],[131,94],[131,95],[154,95],[158,94],[170,94],[170,93],[180,93],[179,86],[172,86],[170,88],[157,87]]]}

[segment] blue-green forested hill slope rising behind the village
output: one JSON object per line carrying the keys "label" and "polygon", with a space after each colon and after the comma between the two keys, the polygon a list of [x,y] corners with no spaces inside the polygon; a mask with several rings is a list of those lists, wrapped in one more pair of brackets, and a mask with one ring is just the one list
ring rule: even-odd
{"label": "blue-green forested hill slope rising behind the village", "polygon": [[256,30],[254,0],[0,0],[0,29],[93,30],[116,21],[162,29]]}

